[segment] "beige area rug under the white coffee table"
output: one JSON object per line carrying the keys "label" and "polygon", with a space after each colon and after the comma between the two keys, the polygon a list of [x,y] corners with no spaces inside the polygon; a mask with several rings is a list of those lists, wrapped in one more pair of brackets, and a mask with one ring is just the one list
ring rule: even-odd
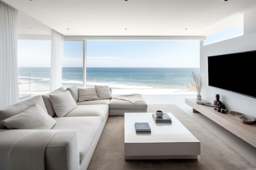
{"label": "beige area rug under the white coffee table", "polygon": [[148,112],[159,108],[171,112],[201,142],[198,160],[124,160],[124,116],[110,116],[88,170],[256,170],[176,105],[148,105]]}

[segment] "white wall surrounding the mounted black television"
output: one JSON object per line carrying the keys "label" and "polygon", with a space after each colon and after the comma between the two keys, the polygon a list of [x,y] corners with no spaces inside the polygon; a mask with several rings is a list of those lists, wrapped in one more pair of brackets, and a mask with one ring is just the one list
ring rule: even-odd
{"label": "white wall surrounding the mounted black television", "polygon": [[[225,40],[222,42],[201,46],[200,74],[202,75],[202,77],[208,75],[208,56],[252,50],[256,50],[256,32]],[[252,73],[252,78],[254,78],[254,73]],[[255,84],[248,84],[248,88],[251,88],[252,91],[256,90]],[[227,108],[228,110],[245,113],[256,118],[256,99],[220,90],[218,88],[209,87],[207,79],[207,86],[202,89],[202,99],[213,102],[215,100],[216,94],[220,95],[220,101],[225,105],[225,108]]]}

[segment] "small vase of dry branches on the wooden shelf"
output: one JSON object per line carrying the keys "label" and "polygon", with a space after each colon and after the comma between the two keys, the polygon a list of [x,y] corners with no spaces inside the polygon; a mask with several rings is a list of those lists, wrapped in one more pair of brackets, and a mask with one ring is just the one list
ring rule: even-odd
{"label": "small vase of dry branches on the wooden shelf", "polygon": [[206,77],[203,77],[200,74],[196,74],[192,71],[192,74],[189,75],[189,82],[195,84],[195,90],[198,93],[196,96],[196,100],[202,100],[201,90],[205,86]]}

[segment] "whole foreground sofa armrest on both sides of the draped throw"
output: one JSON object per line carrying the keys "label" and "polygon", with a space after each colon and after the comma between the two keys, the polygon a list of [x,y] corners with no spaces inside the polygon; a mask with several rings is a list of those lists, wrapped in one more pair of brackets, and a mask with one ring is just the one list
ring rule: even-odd
{"label": "whole foreground sofa armrest on both sides of the draped throw", "polygon": [[[8,169],[12,146],[35,131],[37,130],[0,129],[0,170]],[[45,170],[81,170],[77,130],[57,131],[45,149]]]}

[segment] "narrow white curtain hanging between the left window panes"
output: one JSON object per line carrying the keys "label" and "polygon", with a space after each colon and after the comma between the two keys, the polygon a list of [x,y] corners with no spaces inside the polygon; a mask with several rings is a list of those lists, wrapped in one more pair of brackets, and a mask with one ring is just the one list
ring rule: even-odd
{"label": "narrow white curtain hanging between the left window panes", "polygon": [[51,91],[62,86],[63,37],[52,29]]}

